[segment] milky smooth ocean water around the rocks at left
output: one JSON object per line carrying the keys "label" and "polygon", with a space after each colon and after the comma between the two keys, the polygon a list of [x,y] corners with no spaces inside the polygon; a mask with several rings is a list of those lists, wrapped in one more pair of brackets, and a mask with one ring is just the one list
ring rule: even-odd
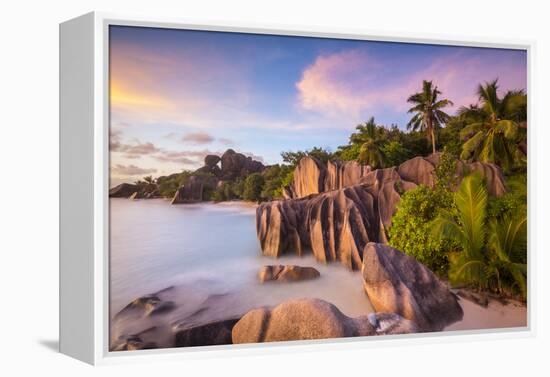
{"label": "milky smooth ocean water around the rocks at left", "polygon": [[[268,264],[312,266],[321,277],[261,284],[258,270]],[[208,322],[304,297],[329,301],[348,316],[372,312],[360,272],[310,255],[262,256],[250,204],[110,199],[111,317],[135,298],[167,287],[174,287],[169,299],[176,309],[159,320],[172,324],[201,308],[199,322]]]}

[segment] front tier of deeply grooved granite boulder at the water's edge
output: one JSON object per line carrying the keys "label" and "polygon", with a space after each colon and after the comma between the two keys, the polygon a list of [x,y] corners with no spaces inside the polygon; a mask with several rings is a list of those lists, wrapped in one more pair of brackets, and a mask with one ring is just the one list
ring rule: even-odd
{"label": "front tier of deeply grooved granite boulder at the water's edge", "polygon": [[361,267],[368,242],[387,242],[402,182],[395,169],[376,170],[364,183],[300,199],[262,203],[256,209],[257,235],[262,253],[302,255],[312,252],[323,263],[340,261]]}

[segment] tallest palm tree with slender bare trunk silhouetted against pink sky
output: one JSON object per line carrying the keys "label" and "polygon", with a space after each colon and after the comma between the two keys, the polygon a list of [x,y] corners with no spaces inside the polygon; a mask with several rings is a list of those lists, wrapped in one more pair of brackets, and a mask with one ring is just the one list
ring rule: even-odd
{"label": "tallest palm tree with slender bare trunk silhouetted against pink sky", "polygon": [[439,99],[440,94],[437,86],[434,87],[431,81],[424,80],[422,91],[407,99],[407,102],[414,104],[408,111],[414,113],[414,116],[407,124],[407,129],[426,132],[428,140],[432,143],[433,153],[435,153],[435,130],[451,119],[442,109],[453,105],[448,99]]}

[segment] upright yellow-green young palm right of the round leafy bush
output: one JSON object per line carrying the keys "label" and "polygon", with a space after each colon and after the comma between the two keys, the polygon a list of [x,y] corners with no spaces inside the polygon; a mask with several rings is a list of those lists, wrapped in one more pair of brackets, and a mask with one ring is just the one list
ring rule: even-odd
{"label": "upright yellow-green young palm right of the round leafy bush", "polygon": [[470,283],[485,288],[488,280],[484,255],[487,190],[479,174],[462,180],[454,194],[454,202],[456,213],[441,210],[432,223],[432,234],[455,241],[461,249],[449,255],[451,283]]}

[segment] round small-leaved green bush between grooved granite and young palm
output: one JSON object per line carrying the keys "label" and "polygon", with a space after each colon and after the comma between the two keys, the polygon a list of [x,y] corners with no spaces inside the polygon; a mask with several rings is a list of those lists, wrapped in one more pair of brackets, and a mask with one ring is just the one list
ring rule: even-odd
{"label": "round small-leaved green bush between grooved granite and young palm", "polygon": [[413,256],[432,271],[446,274],[446,251],[453,246],[452,242],[434,236],[430,228],[439,211],[450,211],[452,205],[452,194],[444,190],[432,190],[421,185],[407,191],[392,218],[390,245]]}

